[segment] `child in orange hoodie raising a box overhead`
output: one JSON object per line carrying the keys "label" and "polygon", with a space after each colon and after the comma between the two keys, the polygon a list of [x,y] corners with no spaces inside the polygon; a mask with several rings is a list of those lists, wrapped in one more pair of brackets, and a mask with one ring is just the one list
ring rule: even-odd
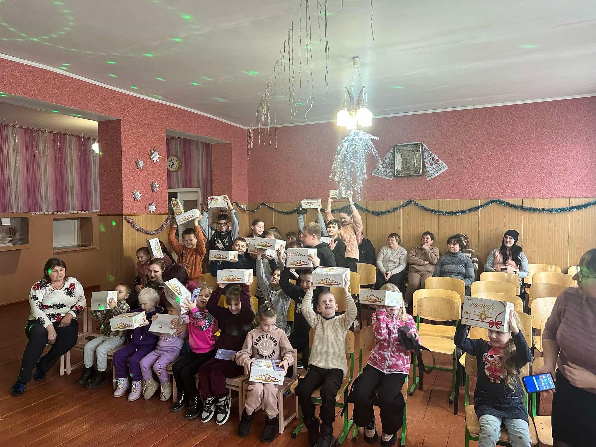
{"label": "child in orange hoodie raising a box overhead", "polygon": [[198,219],[194,219],[194,228],[182,231],[182,245],[176,239],[176,219],[172,218],[170,232],[167,234],[174,253],[178,255],[178,265],[184,266],[191,281],[200,281],[203,274],[203,256],[205,256],[205,238],[199,226]]}

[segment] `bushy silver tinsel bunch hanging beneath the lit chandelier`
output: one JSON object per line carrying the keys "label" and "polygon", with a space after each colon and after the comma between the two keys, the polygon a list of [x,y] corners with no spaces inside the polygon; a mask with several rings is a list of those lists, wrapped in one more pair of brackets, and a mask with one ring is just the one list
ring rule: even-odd
{"label": "bushy silver tinsel bunch hanging beneath the lit chandelier", "polygon": [[362,200],[360,197],[362,180],[368,178],[367,153],[370,152],[374,155],[377,166],[381,164],[373,139],[378,139],[378,136],[367,134],[364,131],[350,132],[343,139],[342,144],[337,147],[333,167],[331,167],[329,181],[333,178],[342,194],[353,191],[356,200]]}

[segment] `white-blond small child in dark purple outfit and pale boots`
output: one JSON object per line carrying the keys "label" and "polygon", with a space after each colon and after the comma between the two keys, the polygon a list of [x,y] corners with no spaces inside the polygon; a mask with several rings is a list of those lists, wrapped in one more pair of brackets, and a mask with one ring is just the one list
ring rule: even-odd
{"label": "white-blond small child in dark purple outfit and pale boots", "polygon": [[[163,261],[162,261],[163,262]],[[114,353],[112,361],[116,372],[116,391],[114,398],[123,396],[128,390],[129,375],[132,378],[131,393],[129,401],[136,401],[141,397],[141,359],[155,349],[159,336],[149,331],[151,317],[156,313],[163,313],[163,309],[157,306],[159,295],[153,288],[145,287],[139,293],[139,309],[132,312],[145,312],[147,320],[137,328],[129,331],[128,344]],[[126,361],[128,360],[128,367]]]}

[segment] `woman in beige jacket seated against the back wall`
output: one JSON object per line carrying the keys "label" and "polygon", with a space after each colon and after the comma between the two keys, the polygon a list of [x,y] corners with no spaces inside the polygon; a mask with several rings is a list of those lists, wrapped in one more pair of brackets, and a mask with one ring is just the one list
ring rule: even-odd
{"label": "woman in beige jacket seated against the back wall", "polygon": [[422,234],[421,244],[414,246],[408,253],[408,288],[403,302],[406,306],[412,302],[414,292],[424,288],[424,281],[430,278],[434,272],[434,265],[439,260],[439,249],[433,247],[434,234],[425,231]]}

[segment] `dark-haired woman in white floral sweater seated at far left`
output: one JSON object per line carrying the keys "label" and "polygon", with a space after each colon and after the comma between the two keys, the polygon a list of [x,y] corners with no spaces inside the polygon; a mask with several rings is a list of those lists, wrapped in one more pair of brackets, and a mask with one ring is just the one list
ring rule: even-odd
{"label": "dark-haired woman in white floral sweater seated at far left", "polygon": [[[64,261],[51,257],[45,263],[44,277],[31,288],[29,305],[31,315],[25,325],[29,343],[23,352],[20,375],[11,391],[13,396],[23,394],[35,365],[33,379],[42,380],[60,356],[75,346],[79,333],[76,316],[85,308],[85,293],[79,281],[66,276]],[[52,343],[51,349],[39,358],[48,343]]]}

